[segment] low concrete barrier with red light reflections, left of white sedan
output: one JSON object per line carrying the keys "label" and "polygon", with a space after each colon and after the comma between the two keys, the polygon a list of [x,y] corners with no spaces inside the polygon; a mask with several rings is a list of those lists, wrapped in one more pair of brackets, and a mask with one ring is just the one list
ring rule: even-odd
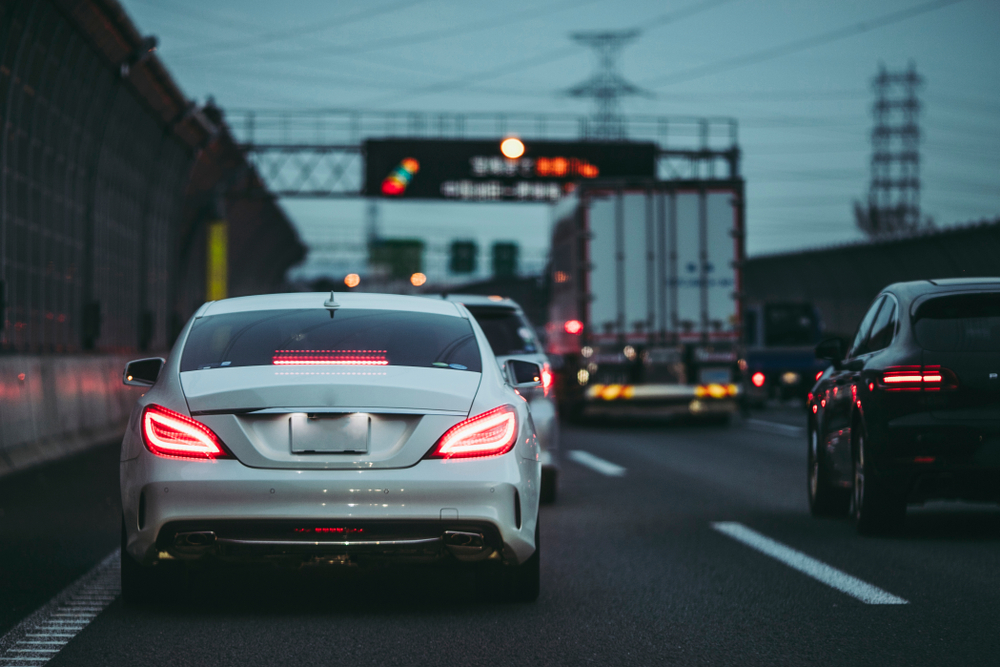
{"label": "low concrete barrier with red light reflections, left of white sedan", "polygon": [[142,393],[118,355],[0,357],[0,476],[121,438]]}

